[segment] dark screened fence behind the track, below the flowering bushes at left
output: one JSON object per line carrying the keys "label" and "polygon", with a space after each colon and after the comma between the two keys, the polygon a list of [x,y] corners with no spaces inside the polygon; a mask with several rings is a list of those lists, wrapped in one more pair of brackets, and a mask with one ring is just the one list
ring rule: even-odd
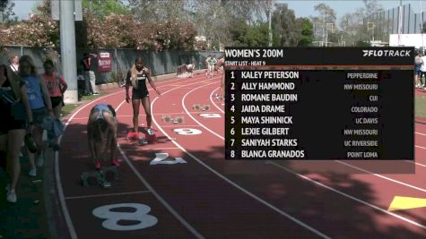
{"label": "dark screened fence behind the track, below the flowering bushes at left", "polygon": [[[55,62],[55,71],[63,73],[60,55],[60,48],[51,47],[22,47],[22,46],[4,46],[4,49],[12,57],[13,55],[30,55],[36,64],[38,73],[43,73],[43,61],[47,57]],[[111,72],[100,73],[95,71],[96,84],[107,82],[121,81],[126,76],[126,72],[134,64],[135,58],[141,56],[144,64],[150,68],[152,75],[161,75],[176,73],[178,65],[181,64],[195,64],[196,69],[205,69],[205,58],[208,55],[215,55],[217,58],[222,57],[223,52],[219,51],[177,51],[166,50],[163,52],[142,51],[135,49],[111,49],[111,48],[98,48],[98,49],[78,49],[77,48],[77,73],[79,70],[83,71],[81,60],[83,54],[99,52],[108,52],[112,59]],[[98,68],[97,62],[95,69]],[[75,80],[77,75],[75,76]]]}

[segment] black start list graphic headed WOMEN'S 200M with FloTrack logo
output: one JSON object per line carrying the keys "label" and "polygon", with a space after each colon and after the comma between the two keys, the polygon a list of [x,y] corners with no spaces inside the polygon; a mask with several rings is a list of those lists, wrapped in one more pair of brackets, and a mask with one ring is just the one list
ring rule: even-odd
{"label": "black start list graphic headed WOMEN'S 200M with FloTrack logo", "polygon": [[413,56],[226,48],[226,159],[413,160]]}

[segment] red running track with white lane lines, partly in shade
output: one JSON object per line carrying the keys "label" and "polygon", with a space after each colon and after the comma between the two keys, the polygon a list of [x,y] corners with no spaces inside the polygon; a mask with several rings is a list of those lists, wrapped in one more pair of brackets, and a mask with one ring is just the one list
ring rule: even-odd
{"label": "red running track with white lane lines, partly in shade", "polygon": [[[122,89],[71,116],[56,160],[74,238],[424,238],[425,208],[387,208],[395,196],[426,197],[426,124],[416,124],[416,162],[395,165],[415,166],[415,174],[371,174],[368,163],[338,160],[224,161],[219,80],[202,74],[158,83],[162,96],[151,96],[156,144],[126,141],[132,107]],[[111,179],[109,190],[79,181],[92,167],[85,124],[100,102],[117,109],[123,177]],[[212,107],[195,111],[195,103]],[[162,115],[185,123],[162,122]]]}

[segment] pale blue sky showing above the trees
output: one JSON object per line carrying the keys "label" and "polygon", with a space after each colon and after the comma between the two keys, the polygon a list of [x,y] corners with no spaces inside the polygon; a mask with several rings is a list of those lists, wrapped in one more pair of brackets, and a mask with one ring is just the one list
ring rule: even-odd
{"label": "pale blue sky showing above the trees", "polygon": [[[66,0],[72,1],[72,0]],[[40,3],[40,0],[13,0],[16,4],[14,7],[15,13],[18,15],[20,19],[28,18],[28,15],[33,9],[34,5]],[[294,10],[296,16],[298,17],[309,17],[310,15],[315,15],[314,6],[319,3],[324,3],[330,5],[335,9],[337,13],[337,19],[340,19],[344,13],[348,13],[349,11],[355,10],[358,7],[362,7],[361,0],[335,0],[335,1],[310,1],[310,0],[277,0],[280,3],[289,4],[289,7]],[[379,0],[380,4],[383,5],[385,9],[390,9],[396,7],[399,4],[399,0]],[[422,3],[422,11],[426,11],[426,0],[405,0],[403,4],[412,4],[414,13],[420,13],[420,3]]]}

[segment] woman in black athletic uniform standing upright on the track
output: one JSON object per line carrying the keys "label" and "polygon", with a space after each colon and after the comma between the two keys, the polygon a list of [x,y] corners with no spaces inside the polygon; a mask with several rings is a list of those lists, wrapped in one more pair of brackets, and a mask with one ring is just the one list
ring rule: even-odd
{"label": "woman in black athletic uniform standing upright on the track", "polygon": [[159,90],[155,86],[154,82],[151,79],[150,70],[143,66],[143,60],[141,57],[135,59],[135,64],[132,69],[127,73],[126,77],[126,102],[129,103],[129,86],[132,85],[132,105],[133,105],[133,125],[135,128],[135,133],[139,133],[139,104],[142,103],[142,106],[146,114],[146,124],[147,131],[149,134],[152,134],[151,124],[152,124],[152,115],[151,115],[151,101],[148,89],[146,89],[146,79],[150,82],[152,89],[157,92],[157,95],[161,96]]}

